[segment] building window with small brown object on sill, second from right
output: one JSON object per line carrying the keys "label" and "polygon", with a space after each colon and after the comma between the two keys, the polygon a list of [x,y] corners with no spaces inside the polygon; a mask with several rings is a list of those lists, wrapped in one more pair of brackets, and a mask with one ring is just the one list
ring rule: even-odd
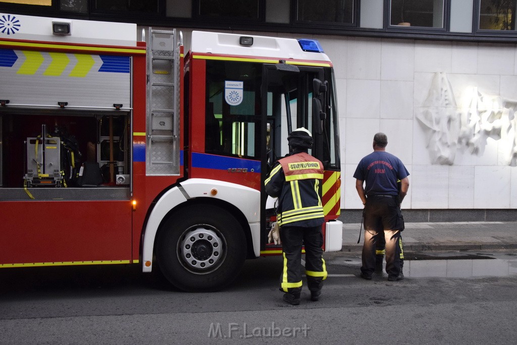
{"label": "building window with small brown object on sill, second from right", "polygon": [[391,0],[389,24],[444,28],[446,0]]}

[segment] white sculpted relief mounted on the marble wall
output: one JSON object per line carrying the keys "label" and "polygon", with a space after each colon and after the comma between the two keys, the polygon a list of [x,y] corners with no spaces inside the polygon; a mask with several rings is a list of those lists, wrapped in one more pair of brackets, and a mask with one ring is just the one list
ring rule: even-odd
{"label": "white sculpted relief mounted on the marble wall", "polygon": [[453,164],[457,149],[481,156],[488,138],[499,141],[504,164],[517,166],[517,101],[471,87],[458,107],[446,73],[436,73],[417,114],[433,164]]}

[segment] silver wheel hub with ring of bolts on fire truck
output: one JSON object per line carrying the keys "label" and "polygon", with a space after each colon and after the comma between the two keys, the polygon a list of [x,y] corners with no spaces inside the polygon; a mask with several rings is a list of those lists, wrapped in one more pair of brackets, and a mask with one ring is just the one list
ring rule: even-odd
{"label": "silver wheel hub with ring of bolts on fire truck", "polygon": [[188,268],[207,271],[224,257],[224,239],[209,226],[196,225],[180,238],[181,259]]}

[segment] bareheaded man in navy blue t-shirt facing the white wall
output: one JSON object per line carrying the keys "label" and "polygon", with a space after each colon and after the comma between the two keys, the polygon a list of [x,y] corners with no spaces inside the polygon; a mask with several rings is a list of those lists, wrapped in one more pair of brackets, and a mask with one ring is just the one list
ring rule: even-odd
{"label": "bareheaded man in navy blue t-shirt facing the white wall", "polygon": [[[375,244],[382,235],[386,241],[388,280],[403,279],[398,245],[403,227],[400,204],[409,188],[409,172],[399,158],[386,152],[387,144],[386,134],[375,134],[373,152],[361,159],[354,173],[357,193],[364,205],[361,277],[368,280],[375,271]],[[401,182],[400,191],[397,180]],[[381,229],[384,234],[379,233]]]}

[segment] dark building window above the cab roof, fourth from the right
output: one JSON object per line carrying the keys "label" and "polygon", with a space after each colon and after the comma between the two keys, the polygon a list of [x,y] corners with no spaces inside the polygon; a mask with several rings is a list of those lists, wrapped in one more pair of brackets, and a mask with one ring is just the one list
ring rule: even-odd
{"label": "dark building window above the cab roof, fourth from the right", "polygon": [[263,0],[198,0],[197,17],[207,19],[260,19]]}

